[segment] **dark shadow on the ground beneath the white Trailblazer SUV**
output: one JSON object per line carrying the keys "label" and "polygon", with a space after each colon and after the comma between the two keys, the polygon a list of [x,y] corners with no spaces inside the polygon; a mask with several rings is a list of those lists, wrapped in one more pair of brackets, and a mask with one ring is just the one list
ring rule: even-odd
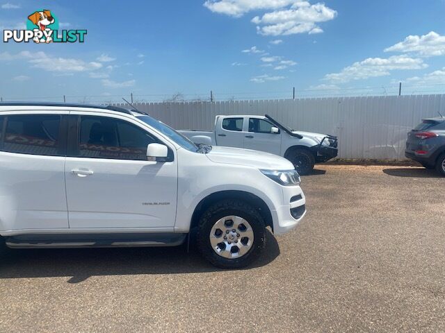
{"label": "dark shadow on the ground beneath the white Trailblazer SUV", "polygon": [[[266,232],[263,255],[244,269],[266,266],[280,255]],[[71,248],[8,250],[0,262],[0,279],[71,277],[79,283],[98,275],[181,274],[225,271],[206,262],[195,248]]]}

